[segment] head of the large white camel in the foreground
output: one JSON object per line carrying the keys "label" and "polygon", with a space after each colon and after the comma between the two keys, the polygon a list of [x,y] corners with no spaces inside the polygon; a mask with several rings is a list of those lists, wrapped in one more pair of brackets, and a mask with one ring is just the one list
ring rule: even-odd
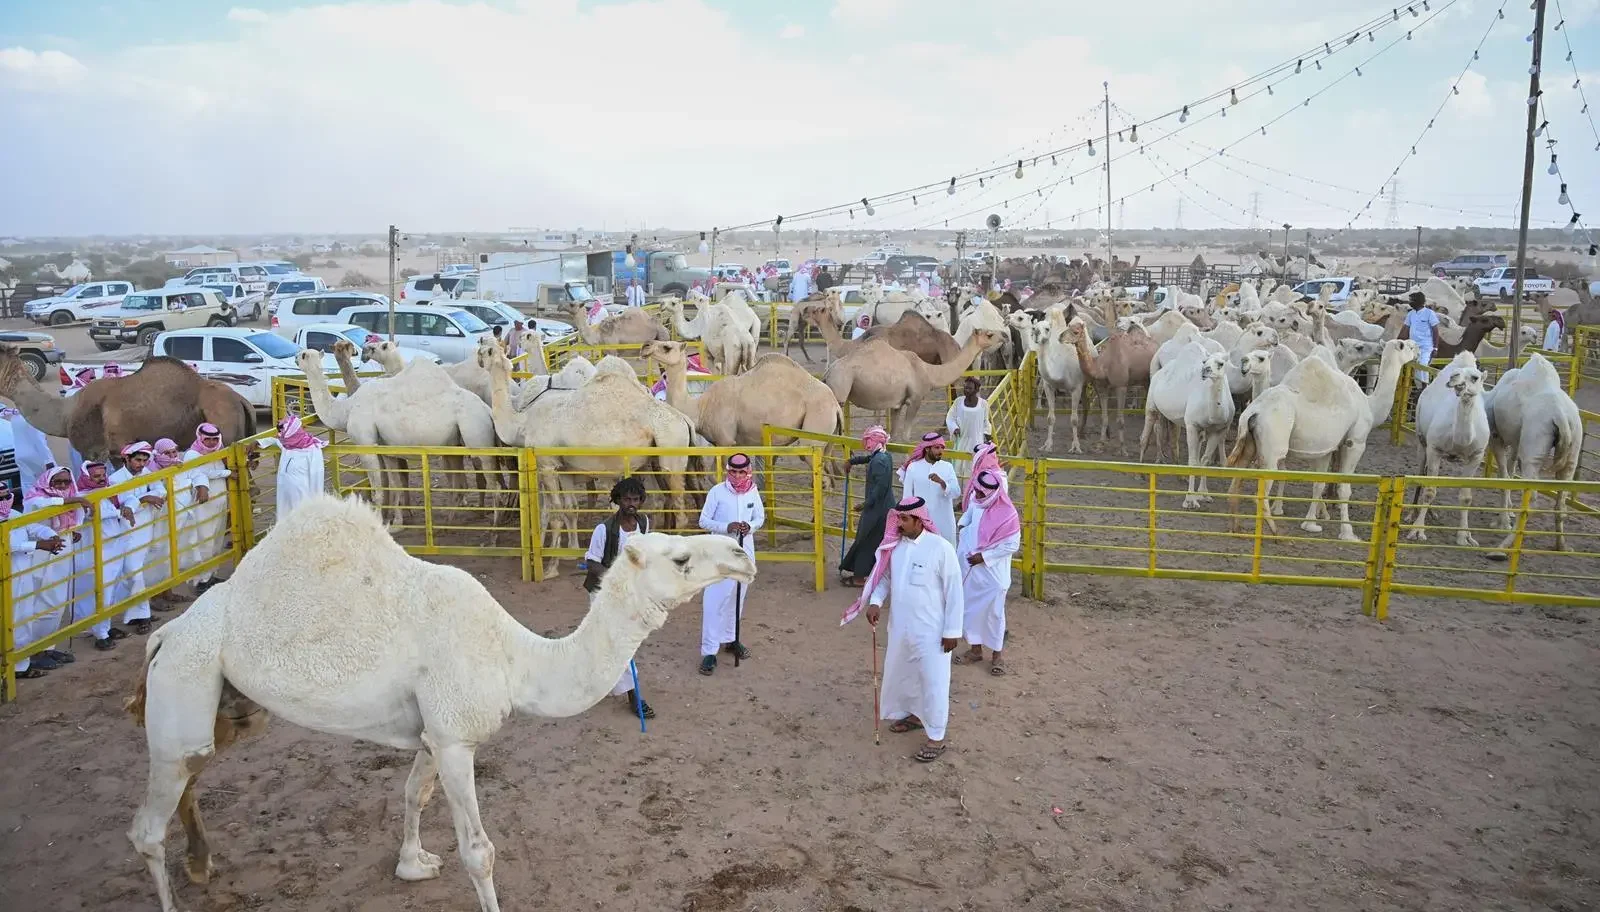
{"label": "head of the large white camel in the foreground", "polygon": [[667,621],[670,606],[723,579],[736,579],[746,586],[755,582],[755,560],[731,538],[635,534],[627,538],[622,554],[602,581],[595,603],[603,603],[606,589],[622,582],[630,600],[616,608],[640,614],[656,630]]}

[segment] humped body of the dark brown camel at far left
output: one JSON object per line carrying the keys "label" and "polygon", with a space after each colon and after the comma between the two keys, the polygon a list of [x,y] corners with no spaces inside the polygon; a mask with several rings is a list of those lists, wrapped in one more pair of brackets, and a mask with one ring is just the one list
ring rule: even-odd
{"label": "humped body of the dark brown camel at far left", "polygon": [[85,459],[107,459],[134,440],[195,442],[210,421],[232,443],[256,432],[256,410],[234,387],[205,379],[178,358],[155,357],[123,378],[101,378],[78,390],[67,438]]}

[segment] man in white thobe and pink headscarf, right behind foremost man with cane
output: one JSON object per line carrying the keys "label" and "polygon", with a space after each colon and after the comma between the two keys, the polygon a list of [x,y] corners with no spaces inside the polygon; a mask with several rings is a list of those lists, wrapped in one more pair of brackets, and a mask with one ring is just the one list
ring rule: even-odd
{"label": "man in white thobe and pink headscarf, right behind foremost man with cane", "polygon": [[989,674],[1003,675],[1005,594],[1011,587],[1011,555],[1022,547],[1022,523],[1005,490],[1005,475],[978,474],[973,502],[962,514],[955,554],[962,560],[962,598],[966,603],[966,642],[971,648],[955,664],[978,664],[984,646],[994,653]]}

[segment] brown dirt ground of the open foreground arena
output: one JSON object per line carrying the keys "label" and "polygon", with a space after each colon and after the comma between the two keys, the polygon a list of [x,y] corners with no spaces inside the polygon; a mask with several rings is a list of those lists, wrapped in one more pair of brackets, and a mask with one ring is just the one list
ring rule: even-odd
{"label": "brown dirt ground of the open foreground arena", "polygon": [[[576,578],[467,560],[565,634]],[[506,909],[1581,909],[1600,896],[1600,635],[1581,613],[1053,576],[1011,602],[1011,677],[957,667],[952,749],[872,744],[869,634],[842,590],[763,565],[752,659],[694,674],[699,610],[638,656],[659,710],[514,720],[480,750]],[[152,909],[123,837],[138,642],[0,707],[0,883],[14,912]],[[475,909],[442,800],[429,883],[394,878],[410,758],[275,723],[202,808],[190,910]],[[184,883],[181,832],[168,853]]]}

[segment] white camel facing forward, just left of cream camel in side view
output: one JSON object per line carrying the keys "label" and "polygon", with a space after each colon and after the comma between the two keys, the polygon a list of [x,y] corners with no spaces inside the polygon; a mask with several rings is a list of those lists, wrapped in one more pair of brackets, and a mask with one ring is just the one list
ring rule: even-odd
{"label": "white camel facing forward, just left of cream camel in side view", "polygon": [[[1214,342],[1213,342],[1214,344]],[[1210,466],[1221,453],[1227,429],[1234,422],[1234,394],[1227,389],[1227,355],[1208,349],[1203,342],[1189,342],[1171,363],[1150,378],[1144,397],[1144,430],[1139,434],[1139,461],[1152,427],[1160,422],[1184,427],[1190,466]],[[1176,450],[1176,434],[1173,448]],[[1160,459],[1162,443],[1157,434],[1155,454]],[[1176,458],[1176,453],[1174,453]],[[1189,475],[1189,494],[1184,509],[1190,510],[1211,499],[1206,478]]]}

